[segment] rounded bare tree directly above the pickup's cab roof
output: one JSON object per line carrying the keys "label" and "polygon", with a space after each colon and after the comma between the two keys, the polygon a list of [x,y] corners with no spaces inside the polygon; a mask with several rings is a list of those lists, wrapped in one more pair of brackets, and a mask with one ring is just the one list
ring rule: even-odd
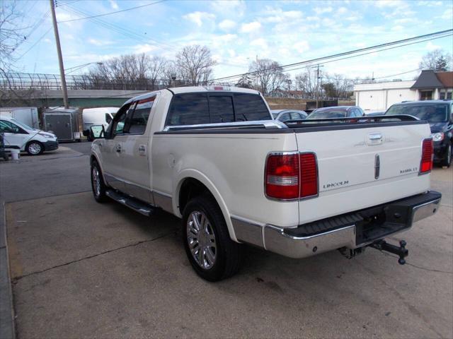
{"label": "rounded bare tree directly above the pickup's cab roof", "polygon": [[212,67],[217,64],[206,46],[195,44],[186,46],[176,54],[175,65],[185,83],[199,85],[206,83],[212,76]]}

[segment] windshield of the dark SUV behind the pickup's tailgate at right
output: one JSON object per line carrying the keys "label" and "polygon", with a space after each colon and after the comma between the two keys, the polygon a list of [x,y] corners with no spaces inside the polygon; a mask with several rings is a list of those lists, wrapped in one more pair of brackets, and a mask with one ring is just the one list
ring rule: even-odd
{"label": "windshield of the dark SUV behind the pickup's tailgate at right", "polygon": [[448,120],[447,105],[394,105],[386,115],[407,114],[428,122],[445,122]]}

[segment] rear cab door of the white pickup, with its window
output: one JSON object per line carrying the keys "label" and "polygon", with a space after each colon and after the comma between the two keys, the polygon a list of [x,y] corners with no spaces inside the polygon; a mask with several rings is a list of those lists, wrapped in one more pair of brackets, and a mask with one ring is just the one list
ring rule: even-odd
{"label": "rear cab door of the white pickup, with its window", "polygon": [[[122,147],[122,161],[127,164],[125,193],[142,201],[151,201],[151,173],[149,167],[149,128],[151,125],[152,107],[156,95],[139,100],[134,109],[127,113],[125,139]],[[148,126],[149,127],[149,126]]]}

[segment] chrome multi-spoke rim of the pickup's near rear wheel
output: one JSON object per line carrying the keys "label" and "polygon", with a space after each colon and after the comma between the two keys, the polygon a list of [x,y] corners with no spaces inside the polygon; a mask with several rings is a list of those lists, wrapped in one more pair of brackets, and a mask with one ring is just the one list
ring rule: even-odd
{"label": "chrome multi-spoke rim of the pickup's near rear wheel", "polygon": [[205,270],[214,266],[217,244],[214,230],[205,213],[194,210],[187,220],[187,240],[195,262]]}

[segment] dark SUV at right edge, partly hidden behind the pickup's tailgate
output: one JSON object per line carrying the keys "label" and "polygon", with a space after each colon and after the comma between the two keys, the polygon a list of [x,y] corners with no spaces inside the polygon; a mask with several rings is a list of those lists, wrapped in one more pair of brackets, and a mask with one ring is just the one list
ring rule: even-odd
{"label": "dark SUV at right edge, partly hidden behind the pickup's tailgate", "polygon": [[408,114],[426,120],[431,126],[434,141],[434,162],[449,167],[452,163],[453,101],[425,100],[392,105],[386,115]]}

